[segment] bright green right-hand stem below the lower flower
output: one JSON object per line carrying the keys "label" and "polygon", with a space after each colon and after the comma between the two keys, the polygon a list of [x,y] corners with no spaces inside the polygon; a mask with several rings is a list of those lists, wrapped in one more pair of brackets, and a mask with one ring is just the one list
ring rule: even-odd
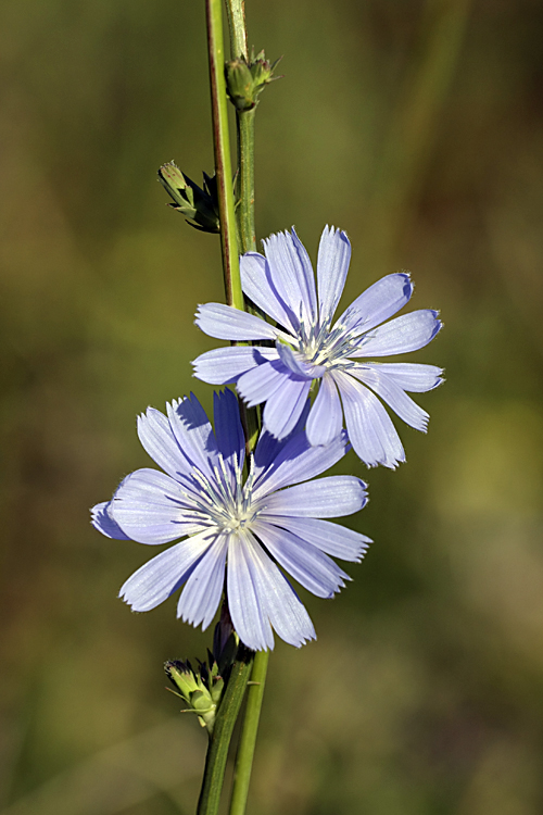
{"label": "bright green right-hand stem below the lower flower", "polygon": [[247,707],[243,718],[236,769],[233,775],[230,815],[244,815],[251,770],[253,767],[254,747],[261,717],[262,700],[266,682],[269,651],[257,651],[254,655],[251,685],[247,694]]}

